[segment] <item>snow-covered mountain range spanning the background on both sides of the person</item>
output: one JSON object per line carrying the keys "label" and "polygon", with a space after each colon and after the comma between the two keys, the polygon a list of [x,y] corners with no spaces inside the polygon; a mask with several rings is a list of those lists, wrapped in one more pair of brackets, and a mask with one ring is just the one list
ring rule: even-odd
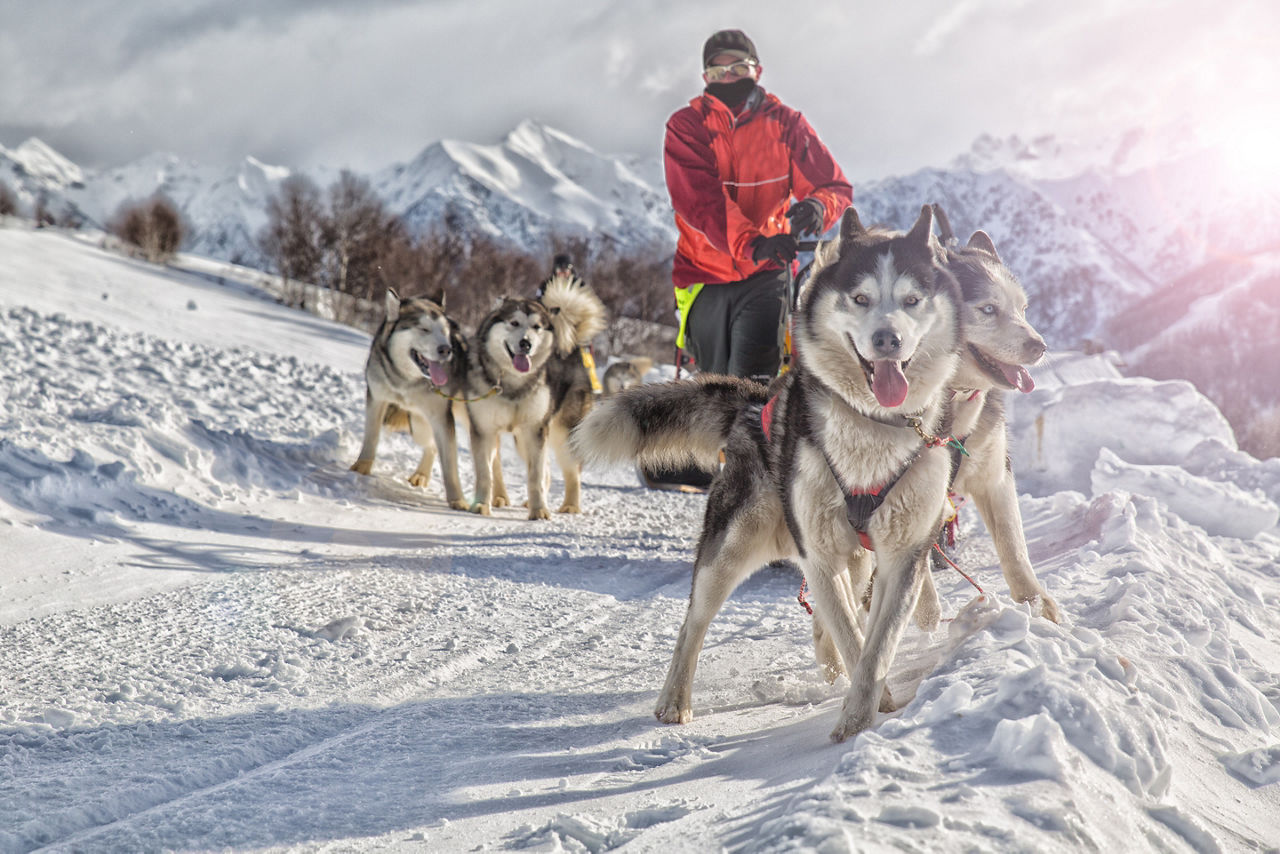
{"label": "snow-covered mountain range spanning the background on both sides of the person", "polygon": [[[253,237],[287,174],[252,157],[219,173],[170,155],[90,174],[36,140],[0,149],[0,181],[14,183],[27,204],[44,192],[55,213],[101,224],[123,200],[161,191],[193,228],[188,248],[250,265],[262,264]],[[335,177],[312,175],[321,187]],[[657,259],[675,241],[657,157],[602,155],[530,120],[497,145],[435,142],[370,182],[420,233],[486,234],[530,252],[581,237]],[[1220,149],[1176,128],[1087,142],[982,137],[950,168],[855,188],[867,222],[905,227],[924,201],[945,205],[961,238],[978,228],[995,238],[1027,287],[1032,320],[1056,347],[1085,339],[1139,347],[1144,342],[1116,318],[1142,316],[1140,306],[1175,282],[1180,291],[1188,280],[1213,288],[1216,277],[1199,270],[1280,239],[1277,188],[1242,175]],[[1260,344],[1256,356],[1267,357]]]}

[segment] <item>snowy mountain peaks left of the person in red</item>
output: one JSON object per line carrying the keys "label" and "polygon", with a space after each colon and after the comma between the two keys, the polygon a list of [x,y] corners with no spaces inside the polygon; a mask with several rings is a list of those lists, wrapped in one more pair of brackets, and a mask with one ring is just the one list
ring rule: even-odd
{"label": "snowy mountain peaks left of the person in red", "polygon": [[[164,154],[88,174],[38,140],[0,149],[0,181],[28,207],[44,193],[60,220],[101,227],[120,202],[163,192],[191,225],[186,248],[248,265],[265,265],[255,238],[266,222],[266,200],[288,174],[253,157],[223,173]],[[310,177],[326,187],[337,174],[324,169]],[[646,256],[669,254],[675,243],[666,189],[654,186],[652,164],[598,154],[535,122],[522,122],[498,145],[435,142],[369,178],[392,213],[420,233],[485,234],[538,254],[556,237]]]}

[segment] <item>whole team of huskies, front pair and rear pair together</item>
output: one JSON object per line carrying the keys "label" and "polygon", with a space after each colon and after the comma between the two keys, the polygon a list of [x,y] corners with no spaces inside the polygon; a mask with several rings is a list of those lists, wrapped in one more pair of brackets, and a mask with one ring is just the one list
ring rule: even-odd
{"label": "whole team of huskies, front pair and rear pair together", "polygon": [[931,551],[951,493],[977,506],[1014,599],[1059,621],[1028,557],[1002,407],[1002,392],[1033,388],[1027,366],[1046,347],[986,233],[960,246],[936,206],[905,233],[868,228],[847,209],[799,293],[791,369],[768,387],[716,375],[628,383],[593,407],[590,387],[568,375],[581,367],[576,348],[603,326],[603,306],[585,287],[564,289],[563,301],[554,280],[541,302],[506,301],[480,325],[470,361],[436,303],[388,296],[353,469],[369,471],[389,415],[407,417],[424,448],[411,483],[426,481],[440,447],[449,504],[466,507],[451,397],[467,401],[477,512],[507,501],[500,430],[529,466],[530,519],[549,516],[548,442],[564,471],[562,511],[580,503],[581,462],[718,466],[659,721],[692,718],[712,618],[741,581],[781,560],[799,565],[813,594],[818,662],[832,681],[849,676],[832,739],[892,711],[886,677],[909,618],[925,629],[940,618]]}

